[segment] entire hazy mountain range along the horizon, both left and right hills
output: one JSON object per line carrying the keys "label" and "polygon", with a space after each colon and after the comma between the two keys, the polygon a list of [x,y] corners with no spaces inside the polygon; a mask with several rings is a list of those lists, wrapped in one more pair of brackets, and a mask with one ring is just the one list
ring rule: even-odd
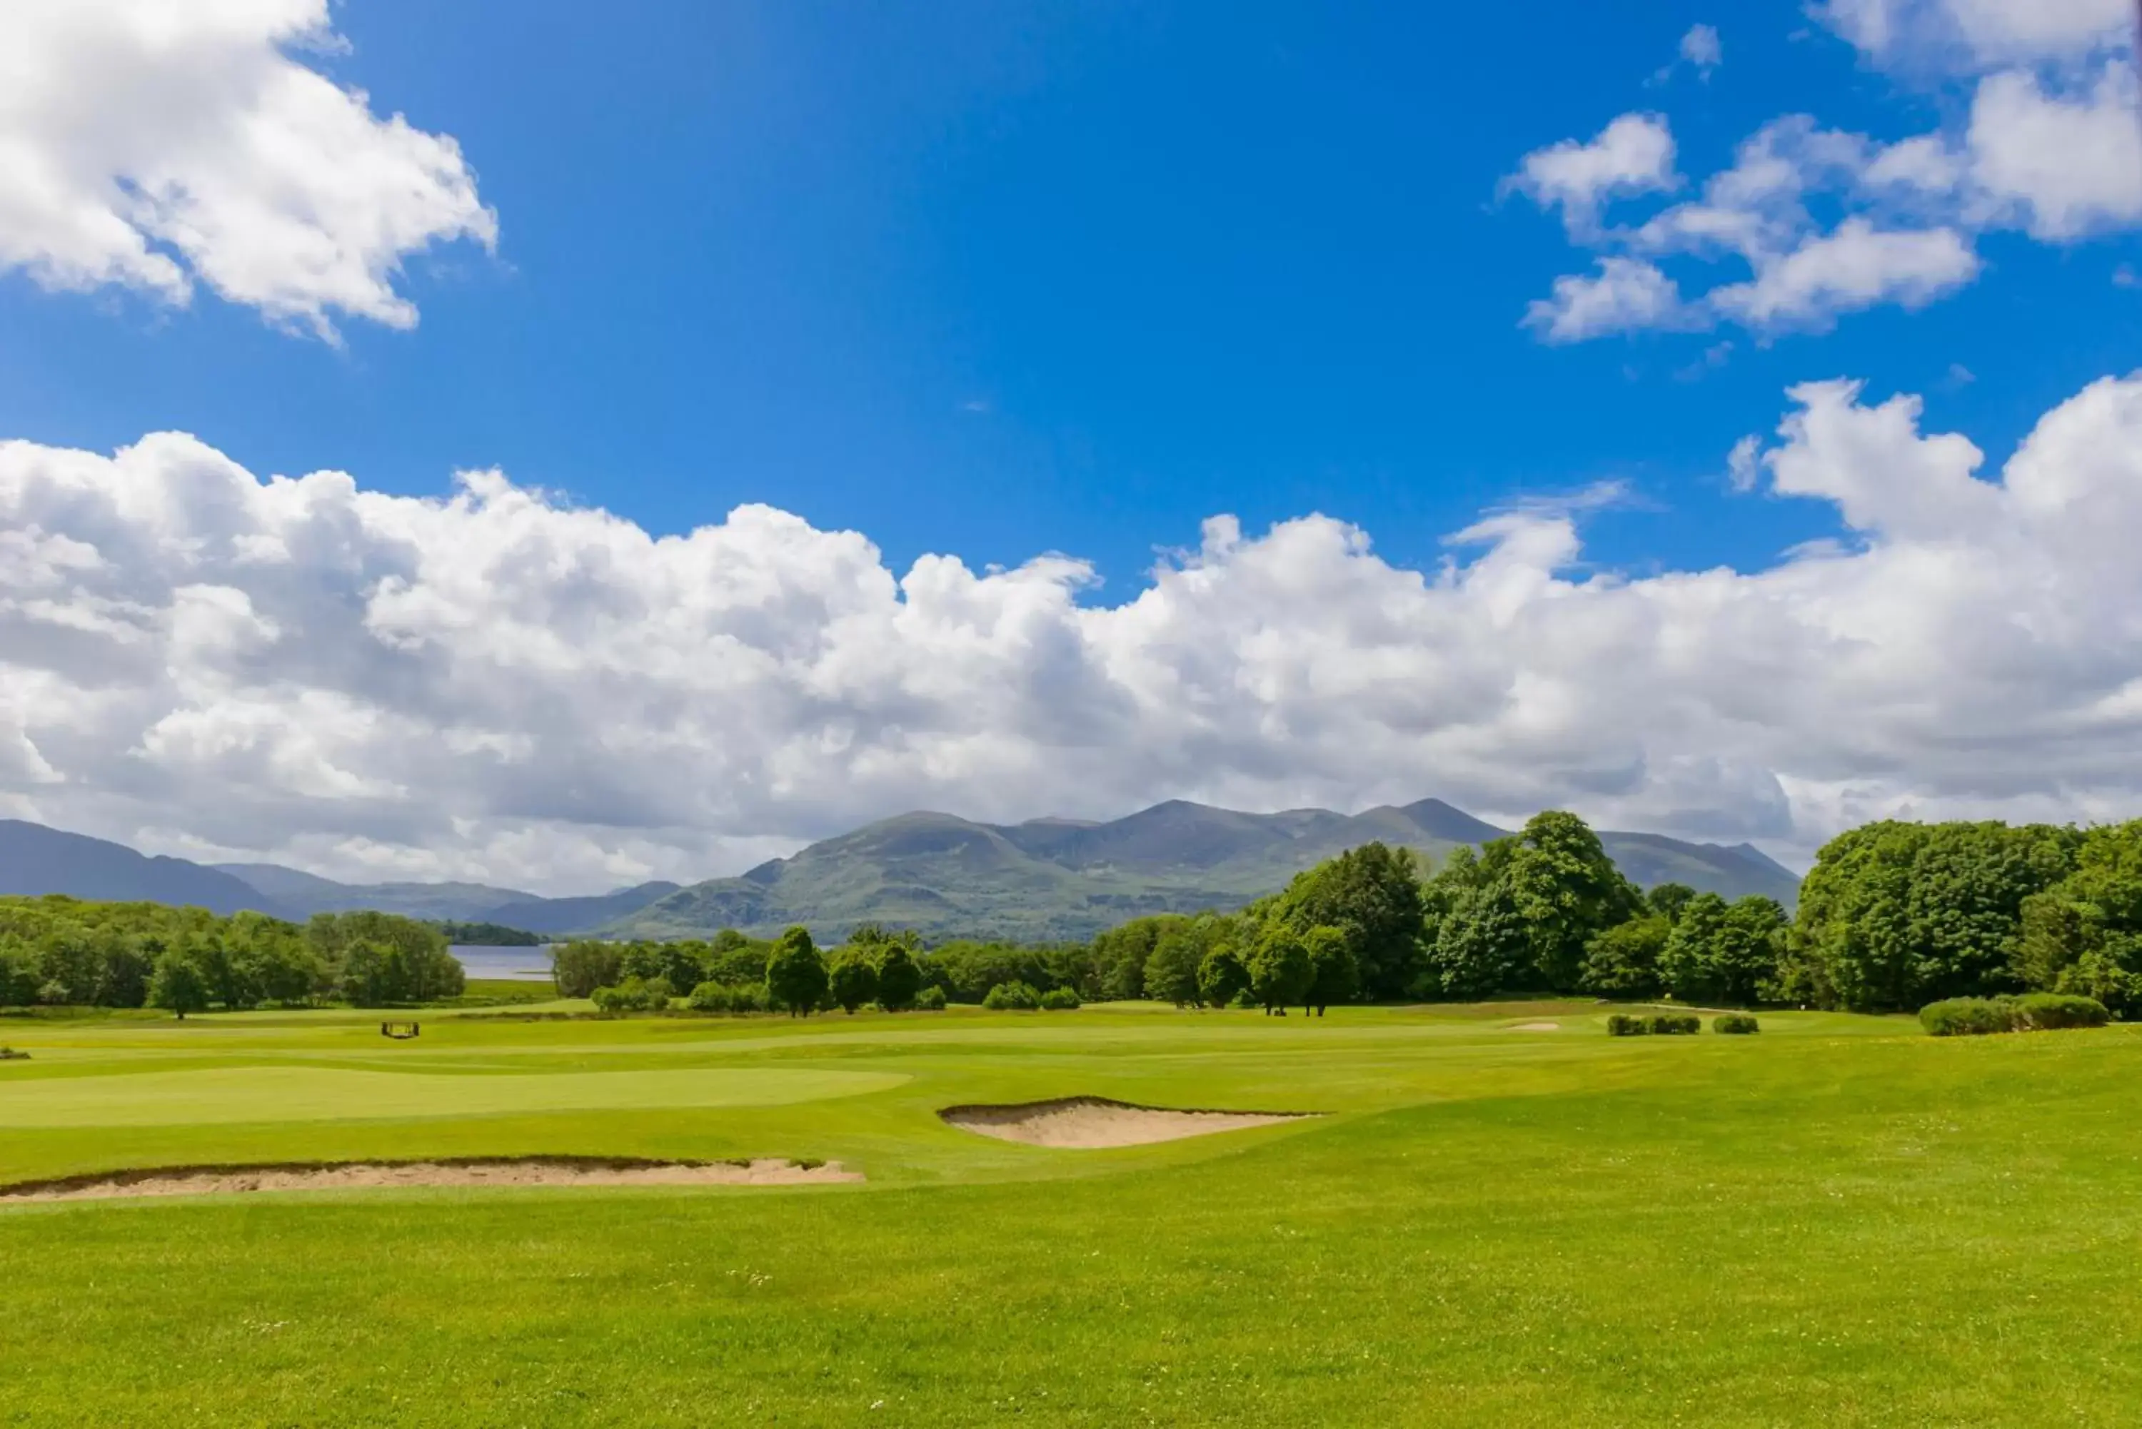
{"label": "entire hazy mountain range along the horizon, both left and right hills", "polygon": [[[823,840],[735,878],[538,898],[482,883],[336,883],[281,863],[152,859],[124,844],[0,821],[0,893],[141,898],[293,919],[379,908],[553,936],[677,938],[720,928],[769,936],[805,923],[820,938],[838,941],[857,923],[885,923],[912,928],[930,941],[1050,941],[1088,938],[1144,913],[1234,908],[1371,840],[1442,859],[1459,844],[1506,833],[1442,799],[1362,814],[1240,814],[1172,799],[1107,823],[987,825],[917,812]],[[1686,883],[1726,898],[1765,893],[1786,906],[1799,889],[1789,868],[1750,844],[1615,831],[1602,831],[1600,842],[1643,887]]]}

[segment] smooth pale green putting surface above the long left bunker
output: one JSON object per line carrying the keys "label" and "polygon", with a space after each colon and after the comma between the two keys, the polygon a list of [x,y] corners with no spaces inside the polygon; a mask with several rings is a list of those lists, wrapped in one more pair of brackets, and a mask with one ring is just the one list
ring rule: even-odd
{"label": "smooth pale green putting surface above the long left bunker", "polygon": [[900,1086],[895,1071],[711,1067],[439,1075],[343,1067],[212,1067],[0,1084],[0,1127],[178,1127],[251,1120],[497,1116],[793,1105]]}

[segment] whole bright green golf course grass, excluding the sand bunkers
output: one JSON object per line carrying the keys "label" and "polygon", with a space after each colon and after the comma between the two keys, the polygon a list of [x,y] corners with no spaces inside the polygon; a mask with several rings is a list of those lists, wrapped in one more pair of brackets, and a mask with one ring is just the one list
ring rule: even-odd
{"label": "whole bright green golf course grass, excluding the sand bunkers", "polygon": [[[870,1178],[0,1208],[0,1425],[2142,1420],[2142,1033],[1602,1013],[0,1020],[0,1183]],[[1127,1150],[936,1118],[1080,1093],[1326,1116]]]}

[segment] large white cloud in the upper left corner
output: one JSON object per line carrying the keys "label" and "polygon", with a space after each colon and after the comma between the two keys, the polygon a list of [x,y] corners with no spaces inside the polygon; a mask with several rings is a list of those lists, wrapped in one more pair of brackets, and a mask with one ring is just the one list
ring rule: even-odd
{"label": "large white cloud in the upper left corner", "polygon": [[401,261],[497,221],[454,139],[296,58],[336,47],[326,0],[0,6],[0,270],[413,326]]}

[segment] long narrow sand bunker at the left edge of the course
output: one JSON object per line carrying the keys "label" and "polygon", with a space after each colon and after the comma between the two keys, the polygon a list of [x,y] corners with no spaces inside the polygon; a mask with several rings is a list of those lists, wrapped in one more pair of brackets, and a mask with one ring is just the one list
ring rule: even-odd
{"label": "long narrow sand bunker at the left edge of the course", "polygon": [[632,1161],[516,1157],[469,1161],[349,1161],[341,1165],[174,1165],[26,1180],[0,1202],[114,1200],[120,1195],[231,1195],[238,1191],[364,1191],[377,1187],[793,1187],[861,1180],[840,1161]]}

